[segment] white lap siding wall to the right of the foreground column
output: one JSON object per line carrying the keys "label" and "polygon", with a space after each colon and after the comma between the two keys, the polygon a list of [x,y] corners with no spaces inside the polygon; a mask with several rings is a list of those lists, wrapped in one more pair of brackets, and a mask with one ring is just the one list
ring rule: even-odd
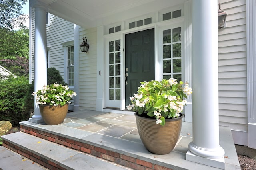
{"label": "white lap siding wall to the right of the foreground column", "polygon": [[227,27],[219,36],[220,125],[247,131],[246,0],[219,0]]}

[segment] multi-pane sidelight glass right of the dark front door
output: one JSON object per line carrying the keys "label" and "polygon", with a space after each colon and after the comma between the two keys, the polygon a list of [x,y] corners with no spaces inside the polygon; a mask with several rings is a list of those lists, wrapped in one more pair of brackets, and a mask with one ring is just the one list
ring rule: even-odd
{"label": "multi-pane sidelight glass right of the dark front door", "polygon": [[163,30],[163,78],[182,80],[181,27]]}

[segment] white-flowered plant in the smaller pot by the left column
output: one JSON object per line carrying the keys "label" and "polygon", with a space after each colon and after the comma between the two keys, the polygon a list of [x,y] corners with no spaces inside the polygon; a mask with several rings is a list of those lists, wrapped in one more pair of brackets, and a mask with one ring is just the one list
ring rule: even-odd
{"label": "white-flowered plant in the smaller pot by the left column", "polygon": [[53,106],[61,106],[72,100],[73,96],[76,96],[76,92],[70,90],[68,86],[63,86],[61,84],[50,84],[47,86],[43,86],[42,90],[38,90],[37,92],[32,93],[33,96],[36,95],[37,104],[48,104]]}

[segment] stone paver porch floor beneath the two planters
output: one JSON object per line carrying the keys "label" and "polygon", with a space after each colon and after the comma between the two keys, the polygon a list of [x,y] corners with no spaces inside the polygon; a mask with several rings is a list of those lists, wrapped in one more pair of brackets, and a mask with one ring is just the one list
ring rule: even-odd
{"label": "stone paver porch floor beneath the two planters", "polygon": [[[156,155],[146,150],[138,135],[134,115],[84,110],[68,113],[60,125],[37,124],[29,121],[20,122],[20,125],[171,169],[218,169],[186,160],[188,144],[192,141],[193,135],[192,123],[188,122],[182,122],[180,139],[174,150],[166,155]],[[225,169],[240,169],[232,134],[228,127],[220,127],[220,145],[225,150]]]}

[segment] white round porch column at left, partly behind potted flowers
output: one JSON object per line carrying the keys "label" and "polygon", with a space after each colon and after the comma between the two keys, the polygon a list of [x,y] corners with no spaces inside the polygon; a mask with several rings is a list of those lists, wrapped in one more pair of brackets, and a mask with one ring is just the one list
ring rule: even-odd
{"label": "white round porch column at left, partly behind potted flowers", "polygon": [[[34,64],[34,91],[42,89],[47,84],[47,45],[46,45],[46,10],[43,6],[35,4],[35,64]],[[43,121],[39,106],[34,103],[34,115],[29,121],[40,123]]]}

